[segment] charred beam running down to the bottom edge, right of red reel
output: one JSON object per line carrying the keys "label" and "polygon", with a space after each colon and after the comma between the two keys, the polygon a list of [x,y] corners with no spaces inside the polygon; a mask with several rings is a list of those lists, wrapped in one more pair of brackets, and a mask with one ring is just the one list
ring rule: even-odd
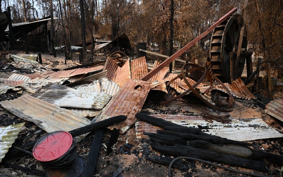
{"label": "charred beam running down to the bottom edge, right of red reel", "polygon": [[103,140],[105,129],[99,129],[96,131],[93,141],[90,146],[90,151],[88,152],[87,156],[87,163],[84,168],[84,173],[82,177],[91,177],[96,169],[96,162],[99,155],[99,150],[101,146],[101,142]]}

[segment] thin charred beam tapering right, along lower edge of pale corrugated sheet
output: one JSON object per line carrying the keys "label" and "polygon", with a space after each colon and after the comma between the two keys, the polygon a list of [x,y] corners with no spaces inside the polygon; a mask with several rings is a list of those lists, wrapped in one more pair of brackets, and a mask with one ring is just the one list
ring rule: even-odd
{"label": "thin charred beam tapering right, along lower edge of pale corrugated sheet", "polygon": [[[164,127],[166,129],[166,127]],[[203,140],[214,144],[238,144],[242,146],[250,146],[250,143],[242,142],[242,141],[235,141],[230,140],[227,138],[221,138],[219,136],[215,135],[209,135],[204,132],[200,132],[205,135],[197,135],[192,133],[183,133],[183,132],[174,132],[174,131],[166,131],[166,130],[157,130],[157,133],[166,134],[166,135],[173,135],[173,136],[179,136],[183,138],[184,140]]]}

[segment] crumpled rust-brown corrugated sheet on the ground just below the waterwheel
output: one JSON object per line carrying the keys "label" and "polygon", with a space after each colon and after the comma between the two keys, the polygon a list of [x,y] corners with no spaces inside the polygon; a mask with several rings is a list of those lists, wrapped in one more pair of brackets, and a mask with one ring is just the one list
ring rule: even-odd
{"label": "crumpled rust-brown corrugated sheet on the ground just below the waterwheel", "polygon": [[[237,98],[246,98],[250,100],[250,98],[254,98],[252,93],[247,89],[241,78],[236,79],[232,82],[232,84],[224,83],[224,85],[230,90],[233,96],[236,96]],[[225,89],[222,87],[222,85],[216,85],[212,88],[212,90],[220,90],[222,92],[225,92]]]}

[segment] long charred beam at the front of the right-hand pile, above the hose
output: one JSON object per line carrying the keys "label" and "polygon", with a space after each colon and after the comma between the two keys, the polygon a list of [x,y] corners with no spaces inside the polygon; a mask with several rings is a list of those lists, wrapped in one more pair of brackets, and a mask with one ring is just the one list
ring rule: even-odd
{"label": "long charred beam at the front of the right-hand pile, above the hose", "polygon": [[151,146],[154,149],[158,150],[159,152],[168,153],[175,156],[188,156],[203,160],[211,160],[220,163],[225,163],[237,167],[244,167],[262,172],[268,172],[268,169],[265,167],[265,164],[262,161],[255,161],[251,159],[241,158],[235,155],[215,153],[207,150],[181,146],[181,145],[167,146],[153,142],[151,143]]}

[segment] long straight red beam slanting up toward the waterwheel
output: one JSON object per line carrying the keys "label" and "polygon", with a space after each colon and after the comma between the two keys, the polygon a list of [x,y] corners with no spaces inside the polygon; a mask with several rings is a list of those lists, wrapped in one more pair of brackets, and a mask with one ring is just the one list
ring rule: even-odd
{"label": "long straight red beam slanting up toward the waterwheel", "polygon": [[168,59],[163,61],[161,64],[159,64],[156,68],[151,70],[149,73],[147,73],[144,77],[142,77],[143,81],[148,81],[150,78],[152,78],[154,75],[156,75],[162,68],[167,66],[169,63],[174,61],[176,58],[178,58],[182,53],[184,53],[186,50],[191,48],[194,44],[196,44],[198,41],[200,41],[202,38],[204,38],[208,33],[210,33],[214,28],[216,28],[219,24],[224,22],[228,17],[230,17],[234,12],[237,11],[237,7],[233,8],[230,12],[228,12],[226,15],[221,17],[216,23],[214,23],[211,27],[209,27],[206,31],[204,31],[201,35],[199,35],[196,39],[193,41],[190,41],[187,45],[185,45],[182,49],[178,50],[176,53],[174,53],[172,56],[170,56]]}

